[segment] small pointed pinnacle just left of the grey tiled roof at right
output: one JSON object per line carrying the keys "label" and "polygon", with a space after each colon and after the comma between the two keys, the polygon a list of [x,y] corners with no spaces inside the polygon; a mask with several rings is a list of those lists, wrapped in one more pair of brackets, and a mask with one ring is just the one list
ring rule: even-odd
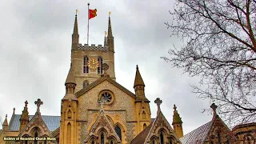
{"label": "small pointed pinnacle just left of the grey tiled roof at right", "polygon": [[177,134],[178,138],[183,137],[183,130],[182,130],[182,118],[178,114],[177,107],[174,105],[174,116],[173,116],[173,123],[174,132]]}

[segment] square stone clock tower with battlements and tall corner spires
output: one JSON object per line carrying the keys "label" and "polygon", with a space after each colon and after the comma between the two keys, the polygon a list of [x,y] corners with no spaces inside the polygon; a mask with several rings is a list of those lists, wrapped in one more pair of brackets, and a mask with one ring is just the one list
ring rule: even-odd
{"label": "square stone clock tower with battlements and tall corner spires", "polygon": [[82,90],[104,74],[102,64],[109,66],[107,73],[115,81],[114,74],[114,36],[112,34],[110,17],[108,19],[108,35],[104,44],[82,45],[79,43],[78,16],[75,15],[74,30],[72,34],[71,62],[73,64],[74,78],[77,86],[75,92]]}

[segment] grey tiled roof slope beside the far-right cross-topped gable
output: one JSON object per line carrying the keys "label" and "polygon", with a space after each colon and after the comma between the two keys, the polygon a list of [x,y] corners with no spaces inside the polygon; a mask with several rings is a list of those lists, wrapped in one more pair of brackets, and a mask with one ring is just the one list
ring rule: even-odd
{"label": "grey tiled roof slope beside the far-right cross-topped gable", "polygon": [[206,124],[198,127],[196,130],[191,131],[189,134],[184,135],[184,137],[180,138],[180,141],[182,144],[204,143],[211,125],[212,122],[207,122]]}

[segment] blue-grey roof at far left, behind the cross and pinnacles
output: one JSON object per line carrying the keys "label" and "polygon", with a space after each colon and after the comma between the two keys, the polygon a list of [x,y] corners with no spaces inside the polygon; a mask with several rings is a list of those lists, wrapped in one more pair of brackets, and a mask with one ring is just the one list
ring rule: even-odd
{"label": "blue-grey roof at far left, behind the cross and pinnacles", "polygon": [[[29,115],[29,118],[33,118],[34,115]],[[50,116],[50,115],[41,115],[42,120],[46,123],[46,126],[50,131],[54,131],[58,129],[60,126],[60,116]],[[10,130],[19,130],[19,119],[21,118],[21,114],[14,114],[13,118],[10,120]]]}

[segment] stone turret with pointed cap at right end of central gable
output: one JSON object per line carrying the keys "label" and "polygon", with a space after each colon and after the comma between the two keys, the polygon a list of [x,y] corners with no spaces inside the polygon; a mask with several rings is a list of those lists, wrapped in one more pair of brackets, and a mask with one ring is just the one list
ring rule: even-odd
{"label": "stone turret with pointed cap at right end of central gable", "polygon": [[151,122],[151,117],[150,117],[151,112],[150,112],[150,104],[149,104],[150,101],[145,96],[144,88],[145,88],[145,84],[143,82],[142,76],[138,70],[138,65],[137,65],[135,80],[134,80],[134,91],[136,95],[135,106],[137,110],[138,133],[144,130],[146,126],[149,126]]}

